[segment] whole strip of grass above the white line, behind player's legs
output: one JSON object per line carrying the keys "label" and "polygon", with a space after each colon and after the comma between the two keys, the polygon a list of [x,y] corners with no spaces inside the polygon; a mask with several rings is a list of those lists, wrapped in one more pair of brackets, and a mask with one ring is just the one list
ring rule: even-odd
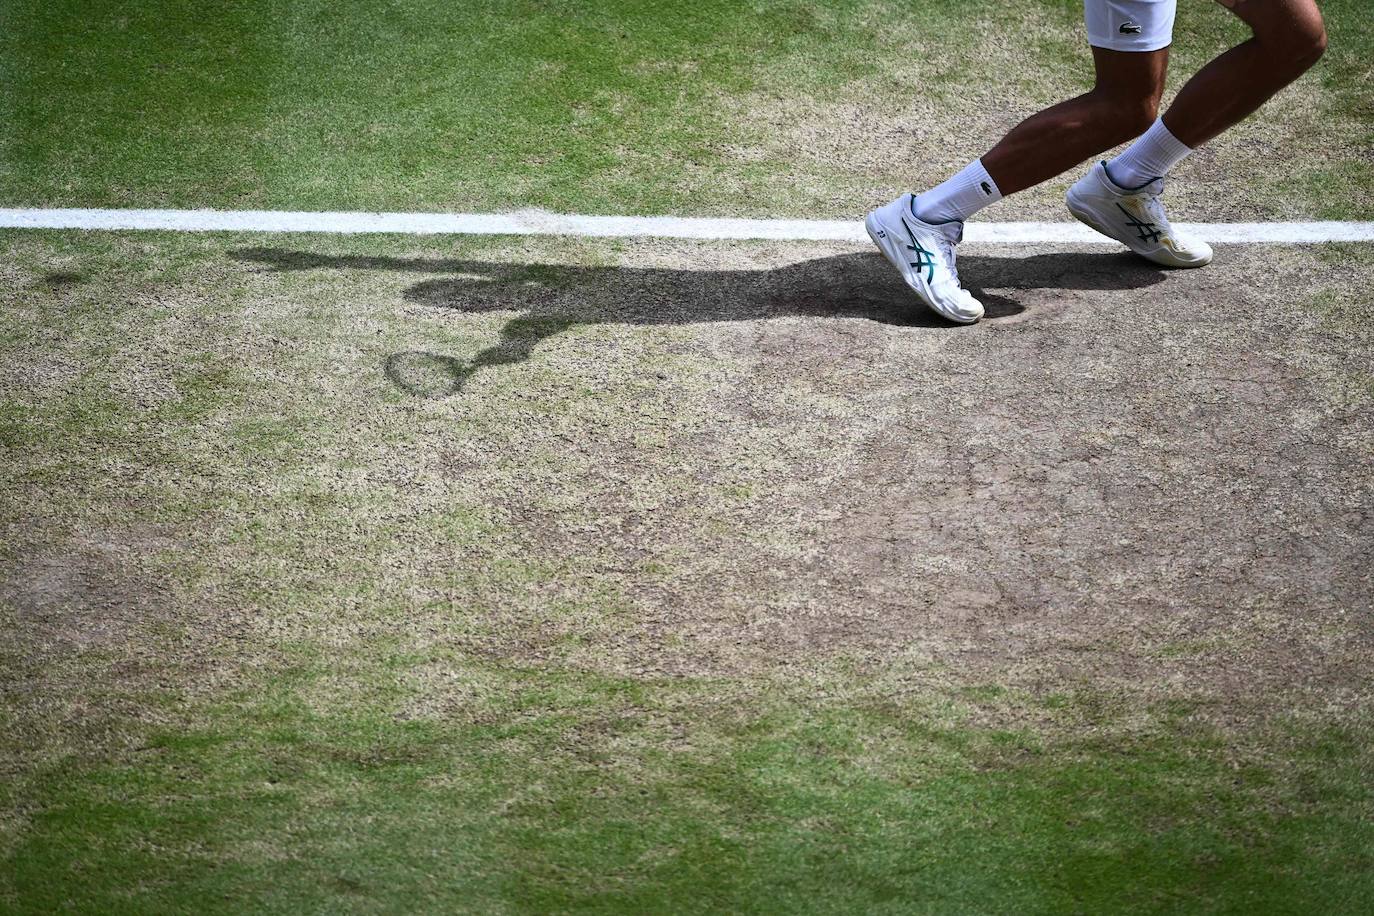
{"label": "whole strip of grass above the white line, behind player's legs", "polygon": [[[1270,114],[1216,147],[1250,173],[1232,205],[1371,211],[1374,45],[1360,0],[1323,8],[1311,98],[1274,136]],[[1065,0],[16,0],[0,16],[5,205],[855,213],[1090,80]],[[1186,10],[1175,85],[1241,36]],[[1282,176],[1250,168],[1256,144],[1290,141]]]}

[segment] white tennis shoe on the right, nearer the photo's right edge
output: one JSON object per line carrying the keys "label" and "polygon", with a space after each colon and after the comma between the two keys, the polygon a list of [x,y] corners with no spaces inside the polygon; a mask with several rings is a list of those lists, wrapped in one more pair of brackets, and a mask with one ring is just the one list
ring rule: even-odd
{"label": "white tennis shoe on the right, nearer the photo's right edge", "polygon": [[1164,179],[1139,188],[1118,187],[1105,162],[1074,181],[1065,202],[1079,222],[1116,239],[1142,258],[1167,268],[1200,268],[1212,262],[1212,246],[1180,235],[1169,225],[1160,195]]}

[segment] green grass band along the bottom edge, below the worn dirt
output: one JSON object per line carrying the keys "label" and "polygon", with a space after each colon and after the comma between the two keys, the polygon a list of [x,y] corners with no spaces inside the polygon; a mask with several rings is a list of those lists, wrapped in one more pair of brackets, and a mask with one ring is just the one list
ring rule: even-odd
{"label": "green grass band along the bottom edge, below the worn dirt", "polygon": [[[36,775],[11,900],[29,912],[1320,912],[1374,891],[1363,725],[1294,720],[1235,744],[1167,710],[1132,733],[1070,706],[1091,736],[1046,739],[861,681],[818,700],[359,658],[229,695],[126,761]],[[407,721],[408,691],[386,673],[423,665],[481,692]],[[745,705],[720,695],[742,688]]]}

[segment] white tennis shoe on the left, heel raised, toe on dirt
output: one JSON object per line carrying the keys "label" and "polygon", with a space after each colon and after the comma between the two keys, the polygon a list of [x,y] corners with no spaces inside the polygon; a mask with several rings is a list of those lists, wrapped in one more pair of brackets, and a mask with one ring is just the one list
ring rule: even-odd
{"label": "white tennis shoe on the left, heel raised, toe on dirt", "polygon": [[982,304],[959,286],[954,246],[963,239],[963,222],[922,222],[911,211],[911,195],[870,213],[868,238],[897,268],[921,301],[960,324],[982,317]]}

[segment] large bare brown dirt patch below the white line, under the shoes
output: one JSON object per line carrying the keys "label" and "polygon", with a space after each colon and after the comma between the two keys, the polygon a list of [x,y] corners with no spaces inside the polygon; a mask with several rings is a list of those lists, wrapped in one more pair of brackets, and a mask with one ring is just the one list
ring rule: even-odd
{"label": "large bare brown dirt patch below the white line, under the shoes", "polygon": [[[1363,345],[1303,305],[1330,272],[1312,250],[1230,249],[1194,273],[970,251],[992,316],[976,328],[910,308],[866,251],[621,258],[540,283],[469,264],[495,282],[405,293],[423,323],[504,328],[492,352],[431,354],[466,367],[431,409],[492,416],[436,459],[526,556],[578,558],[507,596],[488,651],[1367,688],[1371,415],[1327,385]],[[544,412],[559,387],[596,396]],[[521,391],[523,412],[499,404]],[[598,589],[613,618],[551,612]]]}

